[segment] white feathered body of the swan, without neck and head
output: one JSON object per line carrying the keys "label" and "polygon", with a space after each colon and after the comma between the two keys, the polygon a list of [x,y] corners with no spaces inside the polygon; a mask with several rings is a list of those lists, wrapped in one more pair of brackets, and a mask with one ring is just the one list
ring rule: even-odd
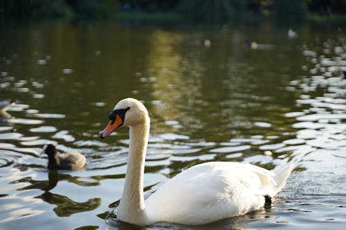
{"label": "white feathered body of the swan, without neck and head", "polygon": [[[280,175],[280,186],[293,167]],[[288,174],[288,175],[287,175]],[[146,201],[152,222],[204,224],[243,215],[264,206],[265,195],[273,196],[277,176],[266,169],[238,162],[208,162],[192,166],[163,184]]]}

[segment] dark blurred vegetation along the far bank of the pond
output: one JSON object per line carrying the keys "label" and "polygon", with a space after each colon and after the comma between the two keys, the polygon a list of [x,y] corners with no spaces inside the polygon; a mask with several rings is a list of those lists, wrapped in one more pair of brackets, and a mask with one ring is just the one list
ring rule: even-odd
{"label": "dark blurred vegetation along the far bank of the pond", "polygon": [[346,0],[0,0],[0,19],[273,19],[291,23],[325,17],[344,19]]}

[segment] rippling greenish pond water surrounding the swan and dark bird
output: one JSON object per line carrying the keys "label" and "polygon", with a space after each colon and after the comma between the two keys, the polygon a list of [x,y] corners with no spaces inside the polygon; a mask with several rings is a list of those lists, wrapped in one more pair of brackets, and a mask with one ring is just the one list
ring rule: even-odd
{"label": "rippling greenish pond water surrounding the swan and dark bird", "polygon": [[[343,229],[345,31],[303,26],[288,39],[287,30],[2,25],[0,99],[17,104],[0,121],[0,229],[134,228],[113,214],[127,130],[106,140],[98,134],[124,97],[142,100],[152,121],[146,195],[201,162],[296,164],[270,209],[146,229]],[[48,171],[40,154],[48,142],[83,153],[86,170]]]}

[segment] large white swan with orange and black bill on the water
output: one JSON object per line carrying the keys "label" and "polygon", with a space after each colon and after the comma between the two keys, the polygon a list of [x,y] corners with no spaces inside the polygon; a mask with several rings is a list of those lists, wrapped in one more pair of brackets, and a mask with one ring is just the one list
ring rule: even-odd
{"label": "large white swan with orange and black bill on the water", "polygon": [[270,201],[269,197],[284,187],[293,169],[289,165],[272,172],[237,162],[198,164],[168,180],[144,200],[150,126],[147,109],[136,99],[122,99],[109,114],[109,120],[101,138],[122,125],[129,126],[129,156],[117,218],[131,224],[164,221],[197,225],[243,215],[263,207],[265,200]]}

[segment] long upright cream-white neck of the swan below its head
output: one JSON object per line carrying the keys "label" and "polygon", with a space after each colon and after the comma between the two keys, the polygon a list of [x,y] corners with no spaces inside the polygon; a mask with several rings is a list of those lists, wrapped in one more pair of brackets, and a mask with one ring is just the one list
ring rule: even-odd
{"label": "long upright cream-white neck of the swan below its head", "polygon": [[145,122],[129,128],[129,156],[118,219],[132,224],[147,224],[143,197],[145,153],[149,138],[149,117]]}

